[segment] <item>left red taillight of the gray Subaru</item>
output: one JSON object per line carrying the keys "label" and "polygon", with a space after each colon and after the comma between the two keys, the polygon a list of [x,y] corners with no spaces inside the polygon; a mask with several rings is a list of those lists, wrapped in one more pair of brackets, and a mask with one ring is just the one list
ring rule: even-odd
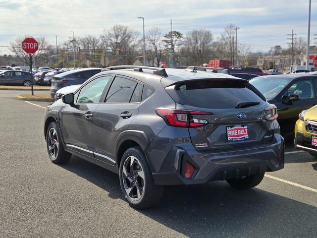
{"label": "left red taillight of the gray Subaru", "polygon": [[211,115],[212,113],[174,110],[166,108],[157,108],[156,113],[165,120],[168,125],[180,127],[198,127],[208,124],[205,119],[196,118],[196,115]]}

